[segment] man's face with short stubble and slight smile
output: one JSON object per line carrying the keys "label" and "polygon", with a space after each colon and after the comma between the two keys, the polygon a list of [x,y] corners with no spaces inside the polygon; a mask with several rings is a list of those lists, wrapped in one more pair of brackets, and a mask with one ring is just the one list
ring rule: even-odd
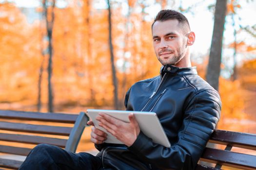
{"label": "man's face with short stubble and slight smile", "polygon": [[156,21],[152,28],[153,45],[160,63],[182,66],[187,37],[177,19]]}

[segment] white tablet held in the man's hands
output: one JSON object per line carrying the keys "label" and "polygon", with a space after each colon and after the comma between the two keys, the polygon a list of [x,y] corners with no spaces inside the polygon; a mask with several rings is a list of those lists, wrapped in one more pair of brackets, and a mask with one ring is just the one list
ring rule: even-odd
{"label": "white tablet held in the man's hands", "polygon": [[88,109],[86,114],[93,121],[96,128],[107,133],[106,143],[123,144],[115,136],[112,136],[104,128],[98,126],[96,117],[98,113],[105,113],[119,120],[129,122],[128,115],[134,113],[140,130],[148,137],[152,138],[153,142],[170,148],[171,144],[162,128],[162,125],[154,112],[138,112],[138,111],[120,111],[120,110],[99,110],[99,109]]}

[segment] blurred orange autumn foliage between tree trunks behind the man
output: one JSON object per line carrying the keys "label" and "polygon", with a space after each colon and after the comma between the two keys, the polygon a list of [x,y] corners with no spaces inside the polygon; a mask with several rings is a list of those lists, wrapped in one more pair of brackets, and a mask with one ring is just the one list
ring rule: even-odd
{"label": "blurred orange autumn foliage between tree trunks behind the man", "polygon": [[[72,3],[54,11],[52,81],[57,111],[77,106],[83,109],[113,106],[107,10],[87,6],[86,2],[84,0],[83,5]],[[129,3],[132,8],[138,1],[131,0]],[[20,102],[21,110],[35,110],[41,47],[45,50],[48,43],[41,37],[46,33],[45,23],[36,20],[28,24],[24,14],[12,3],[1,3],[0,11],[0,102]],[[37,11],[41,13],[40,8]],[[123,106],[126,90],[138,80],[157,76],[160,64],[151,43],[151,22],[144,20],[142,13],[121,15],[122,10],[115,7],[112,36],[115,62],[119,63],[116,65],[118,98]],[[242,49],[244,45],[243,42],[237,44],[237,49]],[[230,47],[233,47],[232,44]],[[247,51],[254,50],[255,47],[247,46]],[[42,75],[44,105],[47,104],[48,55],[45,57]],[[220,78],[222,118],[246,117],[248,91],[245,93],[244,90],[253,89],[256,76],[241,71],[252,69],[250,71],[253,72],[255,65],[256,62],[248,62],[239,68],[239,78],[235,82]],[[202,77],[205,77],[206,66],[206,60],[197,66]]]}

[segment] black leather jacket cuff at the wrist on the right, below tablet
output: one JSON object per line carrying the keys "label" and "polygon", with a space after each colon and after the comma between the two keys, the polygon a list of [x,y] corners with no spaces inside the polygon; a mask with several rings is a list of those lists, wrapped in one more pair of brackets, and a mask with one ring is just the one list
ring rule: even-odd
{"label": "black leather jacket cuff at the wrist on the right, below tablet", "polygon": [[152,139],[146,136],[142,131],[138,134],[134,143],[128,147],[130,151],[140,152],[145,147],[145,143],[152,142]]}

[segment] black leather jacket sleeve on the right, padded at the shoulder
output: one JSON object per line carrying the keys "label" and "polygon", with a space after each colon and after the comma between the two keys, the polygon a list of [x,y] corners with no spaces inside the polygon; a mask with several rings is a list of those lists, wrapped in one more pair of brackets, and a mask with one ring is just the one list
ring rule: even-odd
{"label": "black leather jacket sleeve on the right, padded at the shoulder", "polygon": [[153,143],[141,132],[128,149],[159,169],[193,170],[216,127],[220,109],[217,91],[198,92],[184,110],[177,142],[171,148]]}

